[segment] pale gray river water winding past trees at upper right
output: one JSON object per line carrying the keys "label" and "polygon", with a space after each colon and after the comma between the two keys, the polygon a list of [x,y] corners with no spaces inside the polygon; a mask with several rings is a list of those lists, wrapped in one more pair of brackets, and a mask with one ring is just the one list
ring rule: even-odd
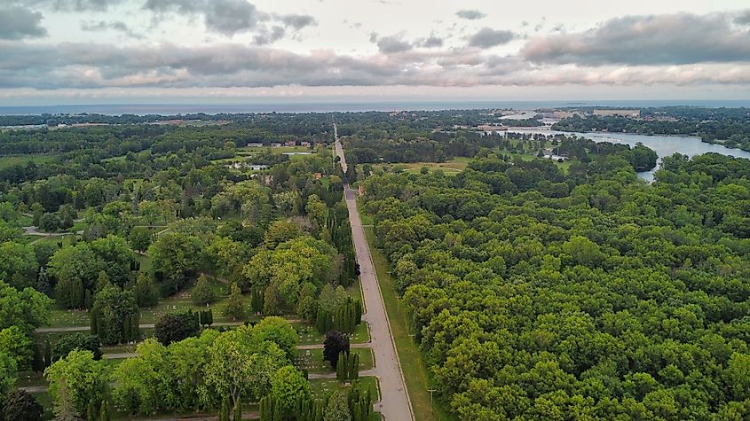
{"label": "pale gray river water winding past trees at upper right", "polygon": [[707,152],[721,153],[722,155],[733,156],[736,158],[746,158],[750,160],[750,152],[742,151],[741,149],[731,149],[721,144],[707,144],[701,142],[698,137],[695,136],[645,136],[645,135],[633,135],[629,133],[576,133],[576,132],[562,132],[556,130],[540,130],[540,129],[511,129],[509,132],[513,133],[540,133],[543,135],[568,135],[568,136],[583,136],[594,142],[609,142],[612,144],[629,144],[631,147],[635,146],[638,142],[651,148],[654,152],[659,155],[659,162],[656,168],[651,171],[643,171],[638,173],[638,176],[643,180],[651,183],[653,181],[653,173],[659,169],[661,165],[661,158],[670,156],[677,153],[683,155],[696,156],[702,155]]}

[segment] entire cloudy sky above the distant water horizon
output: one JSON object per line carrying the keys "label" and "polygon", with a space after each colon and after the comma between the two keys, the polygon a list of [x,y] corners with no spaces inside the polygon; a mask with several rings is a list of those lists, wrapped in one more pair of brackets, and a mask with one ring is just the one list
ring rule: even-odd
{"label": "entire cloudy sky above the distant water horizon", "polygon": [[748,97],[747,0],[0,0],[0,105]]}

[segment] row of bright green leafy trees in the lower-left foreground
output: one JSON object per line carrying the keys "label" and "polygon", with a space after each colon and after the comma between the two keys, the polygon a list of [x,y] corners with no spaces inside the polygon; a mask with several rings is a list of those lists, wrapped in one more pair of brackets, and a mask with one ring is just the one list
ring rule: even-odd
{"label": "row of bright green leafy trees in the lower-left foreground", "polygon": [[167,346],[146,339],[138,344],[138,356],[111,374],[91,351],[75,349],[44,376],[59,417],[81,417],[107,395],[118,409],[146,416],[157,410],[219,409],[227,399],[230,407],[241,408],[241,401],[257,402],[277,389],[298,384],[309,389],[302,373],[289,365],[297,342],[288,322],[270,317],[232,331],[205,330]]}

